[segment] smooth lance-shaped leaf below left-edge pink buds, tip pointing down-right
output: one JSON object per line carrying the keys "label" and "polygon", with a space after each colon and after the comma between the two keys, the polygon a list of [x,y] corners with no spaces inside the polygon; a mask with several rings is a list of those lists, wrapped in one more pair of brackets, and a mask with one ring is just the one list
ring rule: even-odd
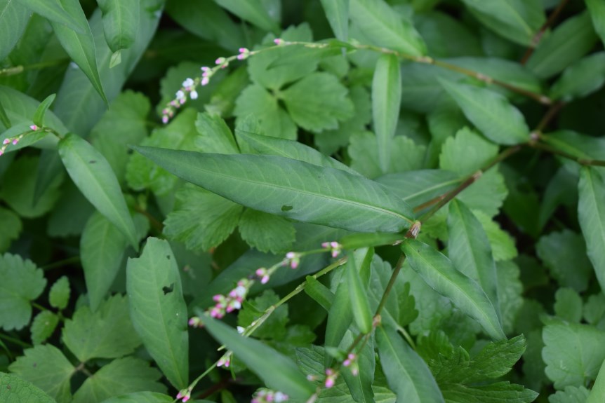
{"label": "smooth lance-shaped leaf below left-edge pink buds, tip pointing down-right", "polygon": [[105,157],[77,135],[67,135],[59,142],[59,154],[67,173],[86,199],[138,250],[135,224]]}

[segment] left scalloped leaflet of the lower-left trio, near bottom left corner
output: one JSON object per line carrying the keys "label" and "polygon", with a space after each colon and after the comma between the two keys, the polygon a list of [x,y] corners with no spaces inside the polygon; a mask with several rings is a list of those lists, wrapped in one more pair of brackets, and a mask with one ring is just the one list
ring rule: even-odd
{"label": "left scalloped leaflet of the lower-left trio, near bottom left corner", "polygon": [[33,383],[58,402],[72,398],[69,380],[76,371],[65,355],[55,346],[28,348],[8,366],[19,378]]}

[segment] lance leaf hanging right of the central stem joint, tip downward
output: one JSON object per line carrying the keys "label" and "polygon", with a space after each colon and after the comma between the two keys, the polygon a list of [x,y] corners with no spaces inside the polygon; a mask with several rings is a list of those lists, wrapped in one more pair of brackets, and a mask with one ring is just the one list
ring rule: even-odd
{"label": "lance leaf hanging right of the central stem joint, tip downward", "polygon": [[500,316],[496,263],[481,223],[464,203],[453,200],[448,214],[448,257],[458,271],[475,280]]}

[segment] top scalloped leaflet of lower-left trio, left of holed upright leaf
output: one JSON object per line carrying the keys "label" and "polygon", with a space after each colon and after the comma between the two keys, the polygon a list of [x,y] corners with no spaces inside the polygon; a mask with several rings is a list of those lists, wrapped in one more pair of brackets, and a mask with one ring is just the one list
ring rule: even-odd
{"label": "top scalloped leaflet of lower-left trio, left of holed upright leaf", "polygon": [[128,315],[128,305],[132,303],[126,296],[117,294],[101,303],[95,313],[81,306],[65,321],[63,343],[81,362],[133,353],[141,340]]}

